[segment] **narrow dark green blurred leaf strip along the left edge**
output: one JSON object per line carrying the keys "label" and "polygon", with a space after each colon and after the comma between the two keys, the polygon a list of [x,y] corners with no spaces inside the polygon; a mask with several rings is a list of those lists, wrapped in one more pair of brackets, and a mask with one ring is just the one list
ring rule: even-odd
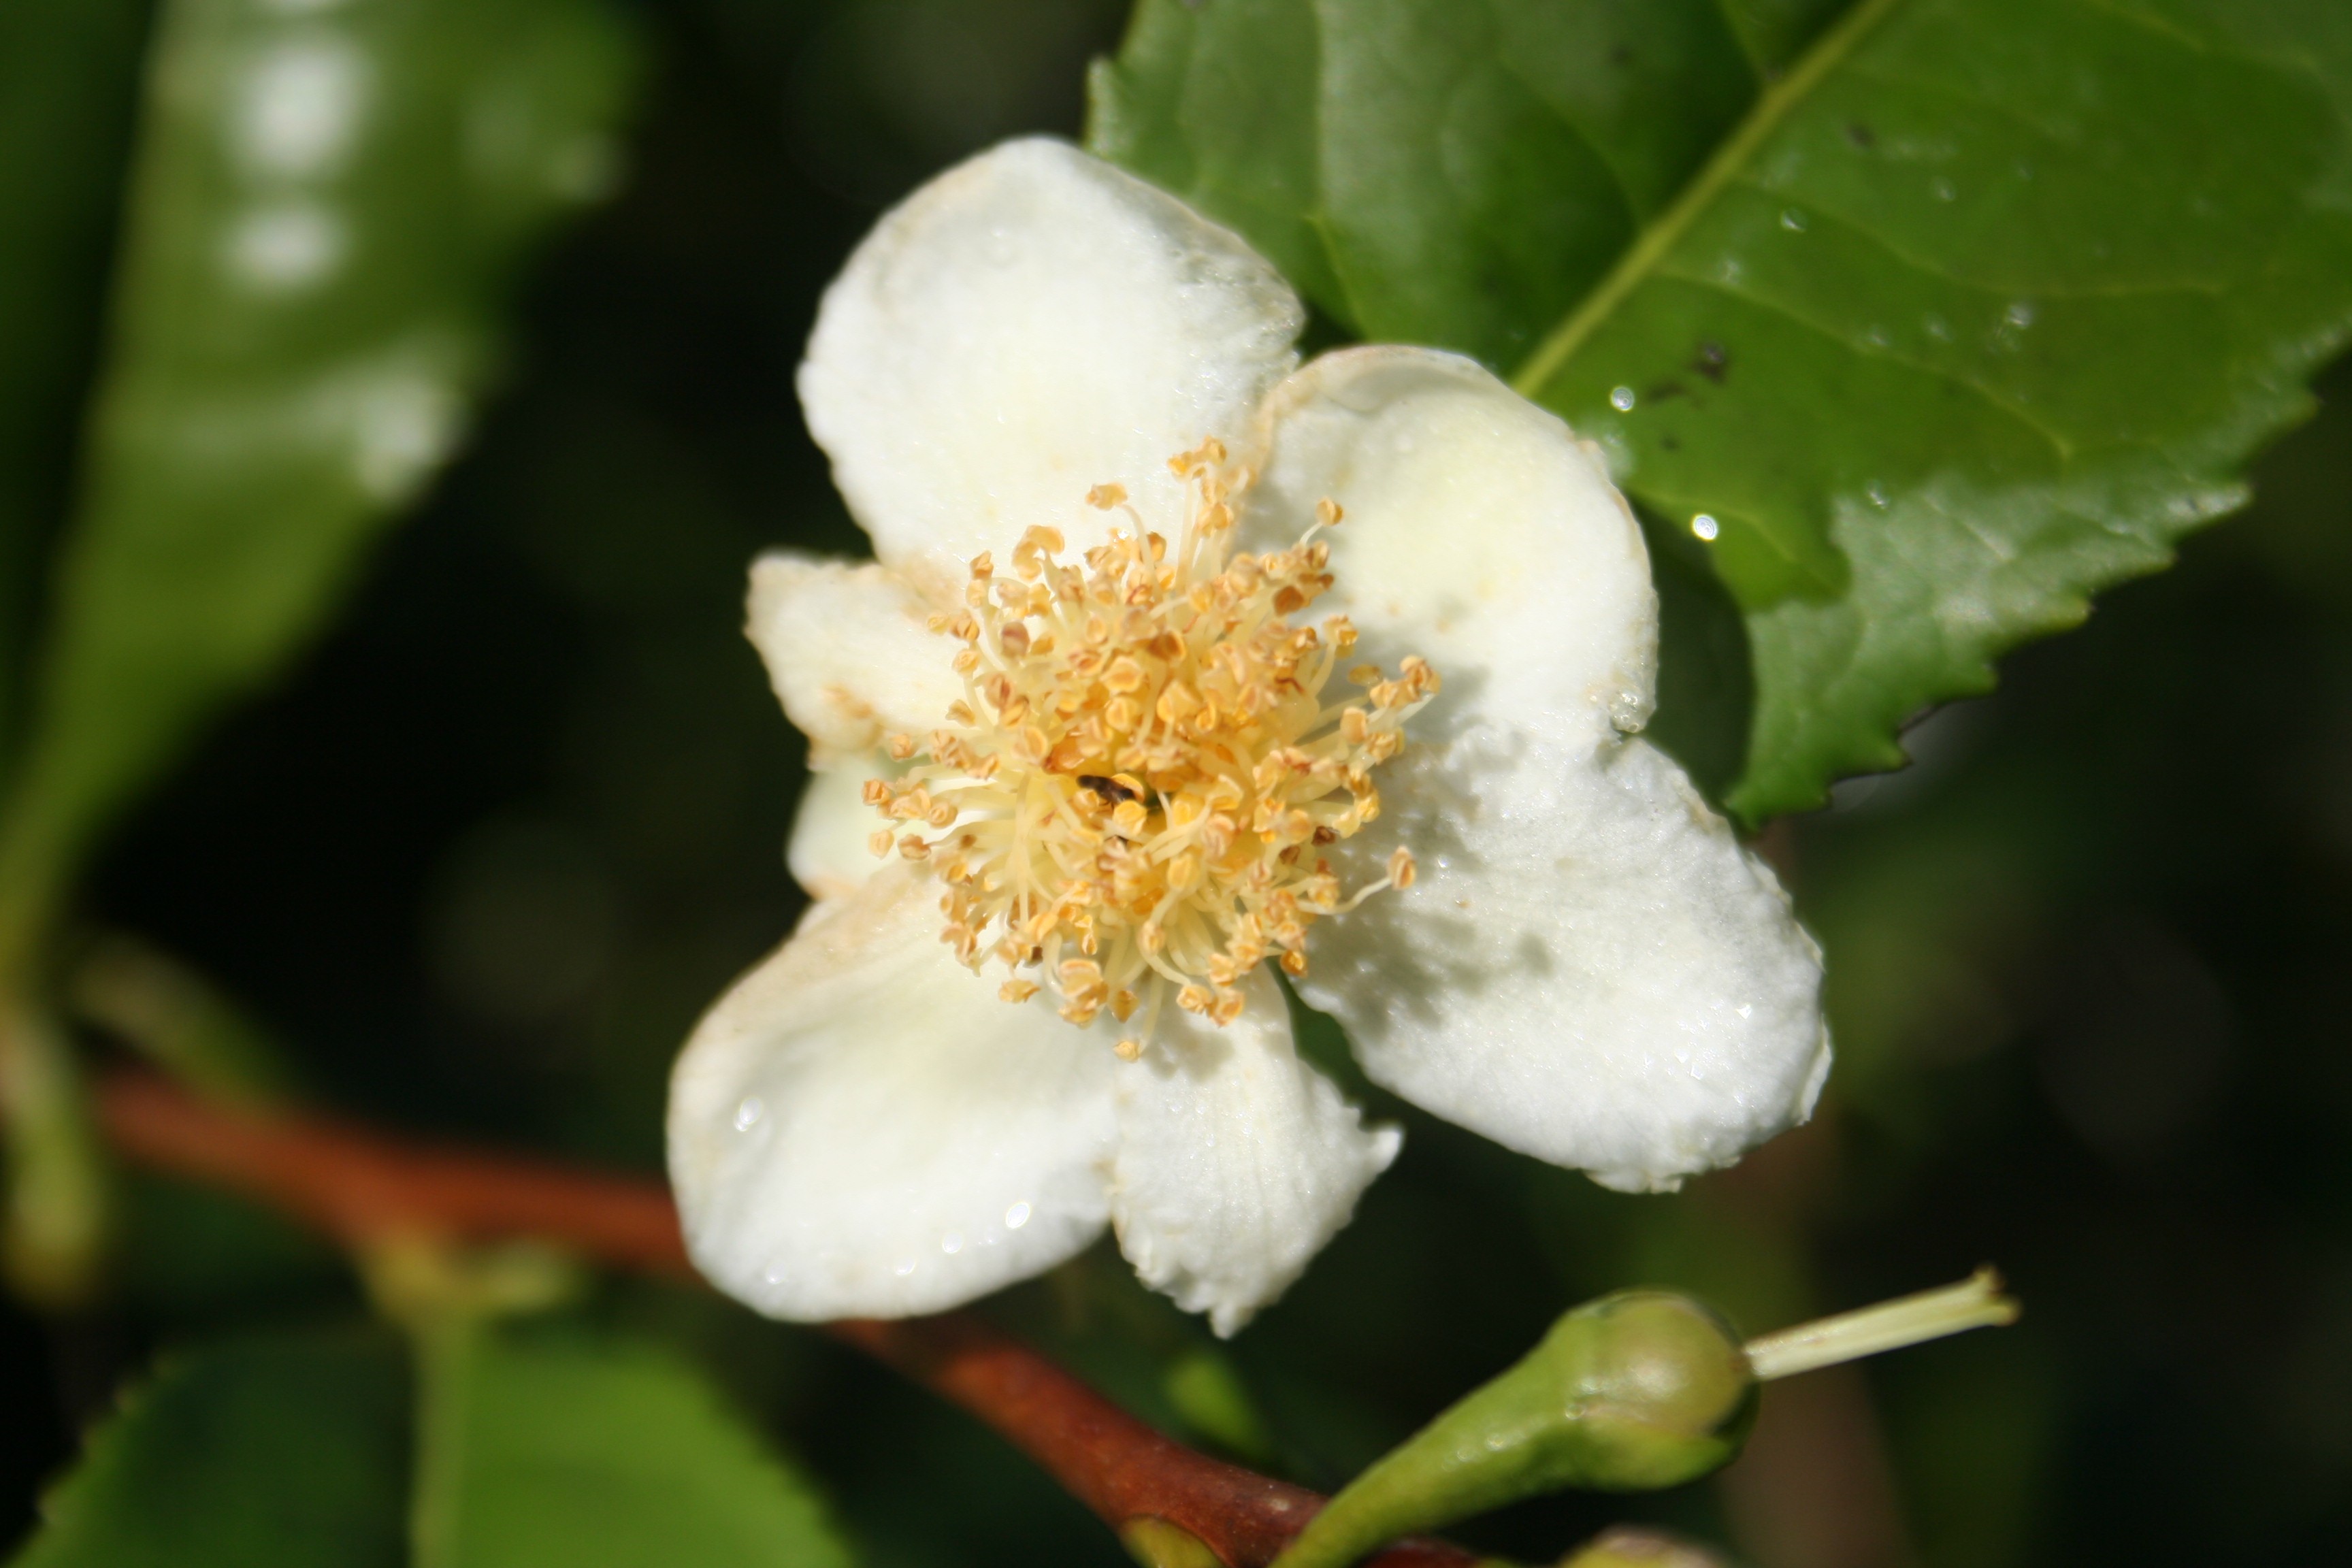
{"label": "narrow dark green blurred leaf strip along the left edge", "polygon": [[71,470],[129,150],[146,0],[0,5],[0,759],[28,576]]}

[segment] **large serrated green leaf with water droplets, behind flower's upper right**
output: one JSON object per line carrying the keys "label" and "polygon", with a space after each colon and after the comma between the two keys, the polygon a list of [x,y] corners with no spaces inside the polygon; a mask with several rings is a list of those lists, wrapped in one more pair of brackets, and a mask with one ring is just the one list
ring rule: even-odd
{"label": "large serrated green leaf with water droplets, behind flower's upper right", "polygon": [[1277,261],[1317,235],[1319,303],[1515,369],[1712,531],[1750,820],[2164,567],[2352,331],[2333,0],[1265,9],[1312,21],[1268,33],[1308,63],[1277,169],[1211,158],[1242,7],[1145,0],[1094,146]]}

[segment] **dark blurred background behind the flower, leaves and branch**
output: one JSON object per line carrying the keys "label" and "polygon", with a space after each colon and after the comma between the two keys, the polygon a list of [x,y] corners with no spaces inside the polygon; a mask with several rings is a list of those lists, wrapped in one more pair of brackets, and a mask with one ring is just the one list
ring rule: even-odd
{"label": "dark blurred background behind the flower, leaves and branch", "polygon": [[[339,1110],[654,1171],[677,1041],[800,905],[797,738],[739,618],[760,548],[858,548],[790,393],[816,292],[931,169],[1075,134],[1122,7],[642,21],[630,179],[536,270],[470,454],[118,835],[85,917],[219,980]],[[1583,1295],[1684,1284],[1769,1328],[1994,1260],[2018,1328],[1771,1389],[1719,1483],[1465,1535],[1548,1559],[1670,1519],[1766,1568],[2352,1561],[2352,411],[2256,480],[2176,571],[1924,719],[1907,773],[1769,835],[1830,964],[1811,1128],[1623,1199],[1355,1081],[1406,1152],[1223,1352],[1108,1248],[993,1309],[1329,1486]],[[1670,597],[1668,703],[1703,675],[1703,595]],[[360,1300],[320,1246],[158,1182],[120,1284],[73,1321],[0,1307],[0,1542],[153,1347]],[[877,1568],[1122,1561],[847,1352],[687,1291],[590,1309],[701,1347]]]}

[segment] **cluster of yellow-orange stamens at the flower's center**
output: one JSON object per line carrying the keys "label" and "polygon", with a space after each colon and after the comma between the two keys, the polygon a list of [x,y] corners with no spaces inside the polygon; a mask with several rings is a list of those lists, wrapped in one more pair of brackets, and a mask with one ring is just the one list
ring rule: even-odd
{"label": "cluster of yellow-orange stamens at the flower's center", "polygon": [[976,557],[967,609],[931,616],[964,644],[964,698],[927,741],[891,736],[894,759],[922,759],[866,785],[891,820],[873,851],[946,884],[941,940],[971,969],[1016,971],[1007,1001],[1037,994],[1035,971],[1070,1023],[1141,1011],[1120,1039],[1129,1060],[1169,997],[1232,1023],[1256,964],[1303,976],[1310,924],[1414,882],[1397,849],[1381,882],[1343,900],[1317,849],[1381,813],[1371,769],[1404,748],[1437,672],[1421,658],[1395,677],[1357,665],[1359,691],[1327,701],[1355,628],[1289,616],[1331,588],[1315,534],[1341,508],[1317,503],[1289,550],[1228,555],[1249,473],[1223,463],[1214,440],[1169,458],[1188,487],[1174,548],[1122,487],[1098,484],[1087,501],[1134,529],[1082,562],[1063,564],[1061,534],[1042,527],[1014,548],[1011,574]]}

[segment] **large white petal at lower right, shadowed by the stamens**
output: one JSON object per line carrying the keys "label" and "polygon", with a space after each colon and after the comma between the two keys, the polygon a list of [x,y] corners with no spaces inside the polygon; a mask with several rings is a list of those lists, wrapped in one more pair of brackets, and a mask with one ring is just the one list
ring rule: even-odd
{"label": "large white petal at lower right, shadowed by the stamens", "polygon": [[1820,952],[1665,755],[1479,724],[1381,778],[1334,860],[1404,842],[1421,877],[1319,922],[1301,983],[1378,1084],[1623,1190],[1811,1114]]}

